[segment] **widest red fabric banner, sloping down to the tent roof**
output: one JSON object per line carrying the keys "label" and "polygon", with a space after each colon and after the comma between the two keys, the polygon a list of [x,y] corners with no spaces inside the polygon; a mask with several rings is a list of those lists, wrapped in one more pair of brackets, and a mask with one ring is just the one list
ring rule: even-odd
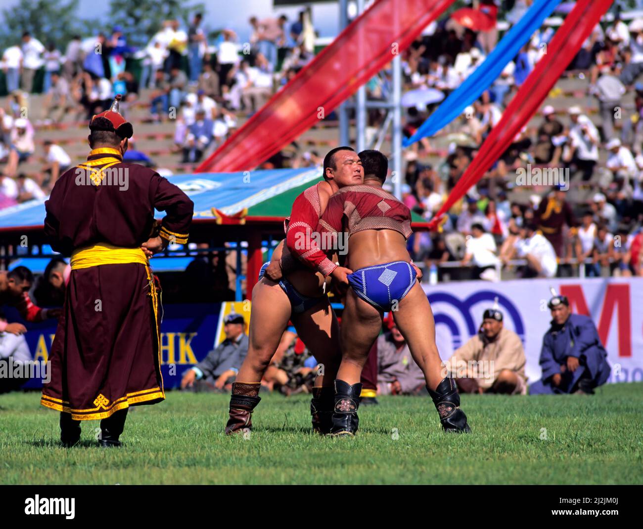
{"label": "widest red fabric banner, sloping down to the tent roof", "polygon": [[195,172],[254,169],[328,116],[454,0],[377,0]]}

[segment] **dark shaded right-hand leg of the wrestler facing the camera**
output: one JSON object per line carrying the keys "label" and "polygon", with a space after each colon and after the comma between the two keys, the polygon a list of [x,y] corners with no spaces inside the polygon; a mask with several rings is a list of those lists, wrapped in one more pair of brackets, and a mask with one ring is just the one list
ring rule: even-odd
{"label": "dark shaded right-hand leg of the wrestler facing the camera", "polygon": [[323,366],[315,379],[315,386],[332,386],[340,367],[340,324],[327,297],[316,306],[291,317],[298,336],[312,356]]}

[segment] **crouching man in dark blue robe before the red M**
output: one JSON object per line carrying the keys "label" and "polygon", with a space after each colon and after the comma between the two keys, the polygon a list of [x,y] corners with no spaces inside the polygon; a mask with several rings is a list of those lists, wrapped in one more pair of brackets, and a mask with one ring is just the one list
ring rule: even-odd
{"label": "crouching man in dark blue robe before the red M", "polygon": [[547,306],[553,319],[540,352],[543,377],[529,386],[529,394],[593,395],[611,371],[596,325],[588,316],[572,314],[565,296],[552,297]]}

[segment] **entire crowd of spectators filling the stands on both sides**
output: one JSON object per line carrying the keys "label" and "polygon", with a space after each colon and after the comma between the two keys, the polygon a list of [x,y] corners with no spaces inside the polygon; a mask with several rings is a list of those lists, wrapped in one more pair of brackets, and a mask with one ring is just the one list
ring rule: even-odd
{"label": "entire crowd of spectators filling the stands on both sides", "polygon": [[[516,11],[530,2],[514,4]],[[516,17],[510,12],[507,19]],[[170,149],[181,162],[207,157],[314,56],[309,11],[294,21],[284,15],[250,17],[248,24],[249,42],[239,42],[230,29],[206,34],[197,13],[185,27],[166,21],[143,49],[129,46],[127,32],[114,26],[109,34],[75,37],[64,53],[24,33],[21,44],[2,55],[10,97],[0,108],[0,207],[44,198],[72,164],[64,146],[35,140],[39,126],[87,120],[107,108],[115,94],[123,96],[124,114],[136,106],[148,111],[145,121],[174,125]],[[543,26],[460,118],[435,139],[404,151],[403,200],[414,212],[430,219],[440,209],[553,34],[554,28]],[[422,32],[403,54],[407,137],[484,61],[497,40],[497,30],[474,31],[449,18]],[[24,112],[39,70],[44,70],[44,107]],[[566,72],[583,87],[571,94],[575,104],[541,108],[539,126],[521,130],[478,185],[449,210],[441,231],[411,239],[413,258],[431,271],[427,277],[642,275],[642,74],[643,20],[626,22],[615,13],[595,28]],[[368,98],[386,100],[391,87],[392,71],[385,68],[367,83]],[[550,94],[568,95],[559,87]],[[597,116],[582,101],[592,101]],[[367,144],[379,141],[385,120],[385,110],[369,110]],[[446,150],[435,148],[440,139],[446,140]],[[41,168],[21,171],[21,164],[35,156]],[[153,164],[133,141],[127,157]],[[277,153],[262,168],[320,163],[318,150],[302,144],[294,153],[290,148]],[[566,180],[556,182],[559,186],[545,180],[525,186],[516,177],[521,168],[552,169]]]}

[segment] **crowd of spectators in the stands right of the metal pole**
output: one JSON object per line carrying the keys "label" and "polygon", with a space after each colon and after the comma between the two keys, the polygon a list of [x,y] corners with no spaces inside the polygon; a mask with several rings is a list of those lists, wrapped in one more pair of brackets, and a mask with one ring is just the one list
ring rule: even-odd
{"label": "crowd of spectators in the stands right of the metal pole", "polygon": [[[415,100],[431,101],[436,93],[442,100],[462,83],[484,61],[483,33],[453,20],[427,28],[404,62]],[[433,139],[405,152],[408,207],[426,219],[439,211],[553,34],[552,28],[536,32],[481,98],[439,134],[448,151],[438,164],[422,162]],[[507,272],[643,275],[642,73],[643,20],[626,23],[616,13],[606,26],[596,26],[566,72],[583,91],[556,88],[550,97],[594,100],[600,119],[591,119],[580,103],[541,108],[539,126],[521,130],[478,185],[449,209],[441,232],[415,234],[415,261],[424,261],[440,280],[497,281]],[[374,83],[370,97],[378,90]],[[633,105],[624,103],[627,97]],[[408,108],[404,134],[412,135],[438,104]],[[525,173],[537,178],[521,180]]]}

